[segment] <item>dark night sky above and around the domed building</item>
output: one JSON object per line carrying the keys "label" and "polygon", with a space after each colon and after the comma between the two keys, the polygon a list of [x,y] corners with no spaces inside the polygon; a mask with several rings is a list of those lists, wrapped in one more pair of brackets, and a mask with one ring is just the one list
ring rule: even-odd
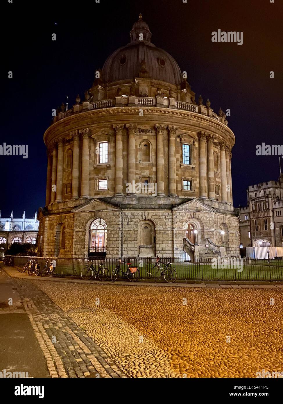
{"label": "dark night sky above and around the domed building", "polygon": [[[81,98],[94,71],[130,42],[139,13],[151,42],[186,70],[188,82],[218,113],[231,109],[235,133],[234,206],[246,205],[246,189],[279,177],[279,157],[256,156],[256,145],[282,144],[282,16],[275,0],[100,0],[1,2],[2,73],[0,144],[29,146],[29,157],[0,156],[1,216],[32,217],[45,204],[46,147],[51,110],[69,96]],[[57,25],[55,24],[57,23]],[[243,31],[243,45],[214,43],[212,32]],[[57,40],[52,41],[53,33]],[[13,71],[13,79],[8,79]],[[269,78],[269,72],[275,78]],[[283,170],[283,159],[281,159]]]}

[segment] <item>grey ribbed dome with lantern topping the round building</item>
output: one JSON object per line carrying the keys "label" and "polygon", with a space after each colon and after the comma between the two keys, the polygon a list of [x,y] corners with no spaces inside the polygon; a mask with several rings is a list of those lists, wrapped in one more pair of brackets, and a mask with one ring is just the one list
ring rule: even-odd
{"label": "grey ribbed dome with lantern topping the round building", "polygon": [[[140,34],[143,34],[143,40],[139,39]],[[165,50],[151,43],[149,26],[141,15],[134,23],[130,37],[131,42],[128,45],[115,50],[105,61],[102,69],[105,82],[133,81],[135,77],[139,77],[143,62],[149,78],[181,84],[182,73],[178,63]]]}

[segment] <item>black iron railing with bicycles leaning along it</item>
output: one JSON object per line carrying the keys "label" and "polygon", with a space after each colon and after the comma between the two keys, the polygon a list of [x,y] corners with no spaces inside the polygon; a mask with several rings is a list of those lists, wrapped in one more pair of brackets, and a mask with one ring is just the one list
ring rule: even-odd
{"label": "black iron railing with bicycles leaning along it", "polygon": [[[38,264],[43,268],[47,257],[23,257],[13,256],[15,267],[23,265],[27,259],[37,259]],[[117,265],[117,258],[88,259],[88,258],[58,258],[48,257],[56,261],[56,276],[80,277],[84,267],[90,265],[99,268],[101,264],[109,268],[110,275]],[[164,278],[160,270],[148,271],[149,265],[155,262],[154,257],[127,257],[122,258],[122,270],[126,271],[126,263],[138,267],[140,281],[161,281]],[[191,280],[231,280],[231,281],[282,281],[283,280],[283,259],[253,260],[253,259],[199,259],[188,261],[184,258],[161,257],[161,266],[166,267],[168,262],[176,270],[177,281],[189,282]],[[152,274],[150,275],[149,272]],[[154,273],[154,274],[153,274]]]}

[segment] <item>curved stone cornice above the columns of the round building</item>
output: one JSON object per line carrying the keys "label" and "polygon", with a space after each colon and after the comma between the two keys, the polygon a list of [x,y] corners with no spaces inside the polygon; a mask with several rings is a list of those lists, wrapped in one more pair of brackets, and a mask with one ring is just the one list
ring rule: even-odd
{"label": "curved stone cornice above the columns of the round building", "polygon": [[[197,126],[199,126],[199,123],[203,122],[204,124],[208,124],[212,128],[215,128],[216,130],[220,130],[226,137],[228,137],[232,147],[235,144],[235,135],[233,131],[226,125],[222,124],[222,122],[214,120],[213,118],[210,118],[208,116],[184,110],[179,111],[176,109],[158,108],[158,107],[143,107],[143,112],[144,112],[144,119],[145,116],[160,115],[161,122],[164,122],[164,118],[166,116],[172,118],[185,118],[191,120],[192,122],[195,122]],[[107,116],[107,118],[108,117],[111,118],[111,116],[113,116],[114,120],[115,119],[114,116],[121,116],[121,117],[123,116],[121,120],[126,120],[127,115],[136,116],[136,123],[140,125],[139,108],[137,107],[112,107],[103,109],[93,109],[88,110],[86,112],[80,112],[79,114],[73,114],[67,118],[63,118],[55,122],[49,128],[47,128],[44,133],[44,142],[46,143],[46,137],[48,135],[50,135],[50,137],[52,137],[52,135],[54,135],[54,137],[61,135],[61,133],[64,132],[67,123],[70,125],[75,125],[79,129],[80,126],[86,125],[85,123],[86,120],[89,120],[89,122],[87,123],[88,126],[91,125],[90,121],[93,122],[93,118],[95,117],[101,118]],[[162,118],[162,116],[164,116],[164,118]],[[130,119],[131,121],[133,121],[132,117]],[[185,126],[185,124],[186,122],[178,123],[178,126],[179,128],[182,128]],[[58,135],[56,135],[56,133]]]}

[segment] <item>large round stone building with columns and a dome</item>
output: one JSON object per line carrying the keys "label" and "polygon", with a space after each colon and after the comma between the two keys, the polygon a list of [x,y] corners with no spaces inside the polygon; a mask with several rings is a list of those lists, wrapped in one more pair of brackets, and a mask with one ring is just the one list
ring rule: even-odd
{"label": "large round stone building with columns and a dome", "polygon": [[62,104],[44,133],[40,255],[238,256],[235,136],[186,77],[140,15],[84,100]]}

